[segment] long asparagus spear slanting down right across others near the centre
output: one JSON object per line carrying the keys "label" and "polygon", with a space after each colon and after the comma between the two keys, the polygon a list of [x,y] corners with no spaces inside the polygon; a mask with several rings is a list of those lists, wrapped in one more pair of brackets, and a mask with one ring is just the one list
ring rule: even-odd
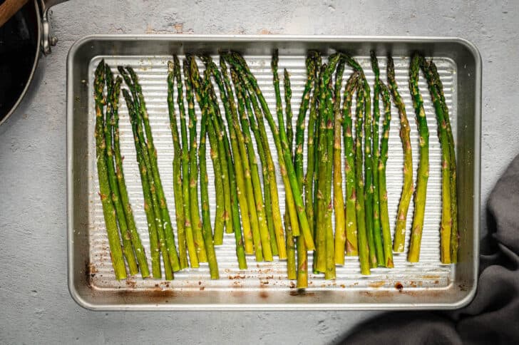
{"label": "long asparagus spear slanting down right across others near the centre", "polygon": [[[272,130],[274,136],[274,143],[276,145],[277,151],[279,153],[279,165],[280,170],[282,172],[282,177],[284,179],[285,190],[287,192],[290,190],[292,192],[292,199],[290,199],[290,195],[287,195],[287,200],[289,203],[294,203],[297,215],[299,218],[299,226],[302,230],[302,235],[304,236],[304,242],[307,244],[308,249],[314,249],[314,240],[312,238],[312,233],[309,230],[308,220],[306,212],[304,212],[304,205],[302,200],[302,194],[297,186],[297,180],[295,178],[294,165],[292,164],[291,155],[287,150],[287,135],[283,128],[277,128],[276,123],[274,122],[274,118],[272,117],[272,113],[270,113],[269,107],[267,105],[267,101],[265,101],[264,96],[257,85],[257,81],[255,76],[248,71],[246,67],[245,61],[242,60],[241,56],[237,53],[227,54],[228,61],[235,66],[236,70],[240,74],[240,78],[245,83],[247,91],[252,96],[257,96],[260,100],[262,111],[267,118],[267,122]],[[252,105],[257,107],[257,100],[255,97],[251,97]],[[281,118],[282,120],[282,118]],[[282,122],[282,121],[281,121]],[[281,130],[282,129],[282,130]],[[282,142],[284,149],[282,148]],[[297,235],[294,233],[294,235]]]}

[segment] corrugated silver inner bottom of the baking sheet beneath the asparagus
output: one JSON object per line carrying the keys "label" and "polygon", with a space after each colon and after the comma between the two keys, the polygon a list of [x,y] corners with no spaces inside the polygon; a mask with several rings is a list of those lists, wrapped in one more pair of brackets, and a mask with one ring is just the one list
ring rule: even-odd
{"label": "corrugated silver inner bottom of the baking sheet beneath the asparagus", "polygon": [[[175,200],[173,198],[173,144],[170,133],[168,104],[167,98],[167,61],[169,56],[103,56],[106,62],[112,66],[113,72],[117,73],[116,66],[129,65],[135,68],[143,86],[148,113],[150,115],[150,123],[153,130],[153,140],[158,150],[158,163],[160,176],[163,182],[170,216],[173,224],[175,223]],[[252,73],[255,74],[260,88],[264,93],[264,97],[269,103],[269,108],[275,116],[275,98],[272,87],[272,72],[270,69],[270,56],[245,56],[250,64]],[[89,83],[93,84],[93,70],[97,63],[101,60],[101,56],[93,58],[89,66]],[[364,68],[366,77],[370,85],[373,85],[373,73],[369,58],[365,56],[356,57]],[[453,133],[456,133],[456,63],[447,58],[435,58],[438,71],[443,81],[446,101],[449,105],[451,122],[453,125]],[[381,80],[386,81],[386,59],[379,58],[381,68]],[[416,168],[418,165],[418,132],[416,130],[415,112],[408,91],[408,58],[395,58],[396,80],[399,83],[399,91],[406,103],[406,110],[411,125],[411,140],[413,148],[413,176],[416,178]],[[202,67],[202,66],[200,66]],[[299,109],[300,98],[303,90],[304,80],[306,78],[306,68],[304,66],[304,56],[280,56],[279,58],[279,76],[282,86],[282,70],[287,68],[292,81],[292,108],[294,110],[294,130],[295,120],[297,118],[297,110]],[[351,73],[346,68],[344,82]],[[408,289],[419,289],[421,287],[430,287],[431,289],[441,289],[451,283],[453,277],[453,267],[442,265],[439,257],[439,222],[441,218],[441,150],[438,142],[436,117],[428,93],[426,81],[421,76],[420,90],[423,95],[424,107],[428,118],[430,130],[430,174],[428,179],[428,194],[426,203],[426,219],[423,228],[423,239],[421,246],[421,259],[418,264],[408,264],[406,262],[406,253],[395,254],[394,269],[377,268],[371,270],[371,276],[364,277],[360,274],[359,262],[356,257],[346,257],[344,267],[336,268],[337,278],[334,281],[325,281],[322,275],[309,276],[309,289],[370,289],[373,287],[391,287],[394,288],[396,282],[401,282]],[[175,90],[176,94],[176,90]],[[92,97],[92,96],[90,96]],[[178,106],[175,103],[178,111]],[[200,118],[200,109],[195,107],[197,118]],[[222,113],[223,113],[222,108]],[[110,255],[108,251],[108,240],[103,221],[103,211],[101,202],[98,197],[98,180],[96,176],[96,160],[95,160],[95,143],[93,141],[94,127],[94,109],[93,100],[89,102],[89,148],[88,148],[88,168],[90,190],[89,202],[89,242],[91,264],[96,269],[96,276],[91,279],[94,287],[101,289],[118,289],[127,287],[128,282],[117,282],[113,276]],[[384,113],[382,112],[383,116]],[[382,120],[382,119],[381,119]],[[178,124],[180,126],[180,123]],[[267,125],[267,124],[266,124]],[[198,123],[197,132],[200,123]],[[389,160],[387,166],[387,182],[389,195],[389,216],[391,220],[391,230],[394,230],[394,222],[396,220],[396,209],[398,207],[399,197],[402,186],[402,149],[401,140],[399,138],[399,115],[396,108],[392,111],[391,132],[389,138]],[[179,127],[180,128],[180,127]],[[270,131],[267,125],[267,133]],[[277,162],[277,152],[271,140],[270,150],[274,162]],[[306,142],[306,138],[305,138]],[[141,240],[145,248],[148,249],[149,257],[149,239],[148,227],[143,212],[143,195],[140,186],[140,176],[138,166],[135,160],[135,148],[133,145],[133,136],[131,133],[130,121],[128,119],[127,108],[124,102],[120,103],[120,143],[124,160],[124,173],[130,195],[130,202],[133,205],[135,221],[138,226]],[[306,162],[306,155],[304,155]],[[259,159],[258,159],[259,161]],[[306,164],[305,164],[306,166]],[[212,163],[207,162],[209,180],[210,180],[210,205],[211,216],[214,217],[215,207],[215,191],[212,182]],[[261,175],[260,175],[261,177]],[[284,187],[279,175],[277,174],[277,185],[279,189],[279,205],[284,212]],[[413,216],[413,202],[408,212],[406,249],[408,247],[408,237],[411,229],[411,220]],[[175,234],[176,236],[176,234]],[[200,269],[186,269],[183,272],[175,273],[175,280],[162,282],[155,279],[140,279],[134,277],[130,279],[131,287],[134,288],[153,288],[155,284],[160,284],[164,289],[199,289],[200,286],[205,289],[260,289],[268,284],[268,289],[289,289],[293,287],[289,280],[286,279],[286,262],[280,262],[274,259],[274,262],[255,262],[254,256],[247,257],[249,269],[240,271],[237,267],[237,259],[235,256],[235,239],[234,235],[226,234],[224,244],[217,247],[217,259],[220,267],[220,280],[209,279],[209,269],[207,264],[200,264]],[[312,254],[309,253],[309,267],[311,267]]]}

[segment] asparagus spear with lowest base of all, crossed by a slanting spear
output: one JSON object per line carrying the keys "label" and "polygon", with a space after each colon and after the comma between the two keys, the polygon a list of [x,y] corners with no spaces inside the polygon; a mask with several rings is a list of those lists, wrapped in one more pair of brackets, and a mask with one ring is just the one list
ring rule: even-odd
{"label": "asparagus spear with lowest base of all, crossed by a slanting spear", "polygon": [[[294,169],[296,170],[297,182],[300,190],[303,190],[304,174],[303,174],[303,144],[304,144],[304,121],[307,116],[307,111],[310,103],[310,93],[315,78],[315,62],[316,53],[309,52],[307,56],[307,81],[304,84],[304,91],[302,95],[302,102],[299,106],[299,113],[297,115],[296,125],[296,150],[294,153]],[[305,205],[306,206],[306,205]],[[313,209],[312,209],[313,214]],[[313,221],[309,220],[309,226],[312,231]],[[302,236],[297,237],[297,288],[303,289],[308,287],[308,254],[307,246],[304,244]]]}

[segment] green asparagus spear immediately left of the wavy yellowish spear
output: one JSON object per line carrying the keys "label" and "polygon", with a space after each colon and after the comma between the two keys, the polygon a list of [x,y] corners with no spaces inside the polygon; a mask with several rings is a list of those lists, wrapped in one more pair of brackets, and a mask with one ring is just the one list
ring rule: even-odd
{"label": "green asparagus spear immediately left of the wavy yellowish spear", "polygon": [[389,213],[387,210],[387,189],[386,189],[386,164],[388,159],[389,125],[391,124],[391,96],[388,88],[379,81],[384,103],[384,122],[382,123],[381,152],[379,158],[379,200],[380,200],[380,221],[382,227],[382,237],[384,238],[384,263],[386,267],[392,268],[393,246],[391,244],[391,230],[389,229]]}

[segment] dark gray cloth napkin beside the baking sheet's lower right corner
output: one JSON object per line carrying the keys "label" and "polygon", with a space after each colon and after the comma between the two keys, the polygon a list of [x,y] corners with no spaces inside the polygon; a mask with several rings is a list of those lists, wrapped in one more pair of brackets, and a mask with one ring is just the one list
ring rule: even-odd
{"label": "dark gray cloth napkin beside the baking sheet's lower right corner", "polygon": [[473,301],[456,311],[383,314],[354,329],[344,344],[519,344],[519,156],[488,200]]}

